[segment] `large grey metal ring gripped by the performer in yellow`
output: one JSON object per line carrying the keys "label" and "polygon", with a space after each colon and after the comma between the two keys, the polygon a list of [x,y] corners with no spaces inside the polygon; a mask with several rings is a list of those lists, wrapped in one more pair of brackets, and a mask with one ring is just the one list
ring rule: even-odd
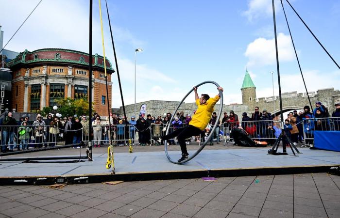
{"label": "large grey metal ring gripped by the performer in yellow", "polygon": [[[206,84],[206,83],[212,83],[212,84],[216,85],[217,87],[220,87],[220,85],[217,84],[217,82],[214,82],[214,81],[205,81],[205,82],[202,82],[202,83],[196,85],[195,87],[199,87],[199,86],[201,86],[201,85],[203,85],[203,84]],[[170,122],[171,122],[172,119],[174,118],[174,116],[175,116],[177,110],[178,110],[179,107],[182,105],[182,103],[183,103],[184,100],[187,98],[187,96],[188,96],[190,93],[192,93],[192,91],[194,91],[194,88],[192,88],[192,89],[186,94],[186,96],[184,96],[184,98],[182,99],[182,101],[179,103],[179,105],[177,106],[177,108],[176,108],[175,111],[173,112],[173,114],[172,114],[172,116],[171,116],[171,119],[170,119],[170,121],[169,121],[169,125],[168,125],[168,127],[167,127],[167,131],[166,131],[166,133],[165,133],[166,135],[168,135],[168,133],[169,133]],[[188,156],[187,159],[185,159],[185,160],[183,160],[183,161],[181,161],[181,162],[173,161],[173,160],[170,158],[169,154],[168,154],[168,143],[167,143],[167,140],[164,141],[165,154],[166,154],[166,156],[168,157],[168,159],[169,159],[169,161],[170,161],[171,163],[174,163],[174,164],[183,164],[183,163],[186,163],[187,161],[191,160],[192,158],[194,158],[196,155],[198,155],[198,154],[203,150],[204,146],[208,143],[208,141],[210,140],[210,138],[213,136],[213,134],[215,133],[215,129],[216,129],[216,126],[217,126],[217,124],[218,124],[218,121],[220,120],[221,113],[222,113],[222,109],[223,109],[223,93],[222,93],[221,90],[220,90],[219,92],[220,92],[220,97],[221,97],[221,98],[220,98],[220,100],[221,100],[221,101],[220,101],[220,110],[219,110],[219,113],[218,113],[218,115],[217,115],[217,120],[216,120],[216,122],[215,122],[215,125],[213,126],[212,130],[210,131],[210,134],[209,134],[208,138],[204,141],[204,143],[200,146],[200,148],[199,148],[193,155]]]}

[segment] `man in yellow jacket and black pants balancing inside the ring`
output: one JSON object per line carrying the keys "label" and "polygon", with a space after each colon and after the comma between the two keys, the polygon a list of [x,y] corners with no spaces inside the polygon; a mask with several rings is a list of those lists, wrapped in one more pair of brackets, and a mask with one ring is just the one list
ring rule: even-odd
{"label": "man in yellow jacket and black pants balancing inside the ring", "polygon": [[[223,92],[222,87],[218,87],[217,89]],[[194,92],[197,110],[192,116],[192,120],[189,122],[189,125],[179,128],[169,135],[163,136],[162,139],[159,139],[160,142],[161,140],[169,140],[177,136],[177,140],[182,150],[182,157],[178,160],[178,162],[188,158],[189,154],[187,153],[186,139],[191,136],[200,135],[210,121],[211,114],[214,112],[214,106],[220,100],[220,93],[214,98],[210,98],[207,94],[202,94],[201,97],[199,97],[196,87],[194,87]]]}

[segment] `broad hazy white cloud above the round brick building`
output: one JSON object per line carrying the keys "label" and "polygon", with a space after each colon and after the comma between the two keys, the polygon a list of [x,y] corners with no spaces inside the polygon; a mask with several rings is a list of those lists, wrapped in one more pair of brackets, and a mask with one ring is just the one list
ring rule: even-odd
{"label": "broad hazy white cloud above the round brick building", "polygon": [[[21,25],[39,0],[0,0],[0,20],[4,31],[4,44]],[[67,6],[66,6],[67,5]],[[102,3],[102,10],[104,10]],[[13,14],[21,16],[13,16]],[[114,61],[111,36],[106,13],[103,14],[106,55]],[[102,54],[102,37],[98,5],[93,8],[92,52]],[[125,42],[132,46],[145,44],[129,30],[112,25],[115,43]],[[34,13],[6,47],[17,52],[28,49],[57,47],[88,52],[88,2],[79,0],[43,0]],[[116,48],[117,50],[117,48]]]}

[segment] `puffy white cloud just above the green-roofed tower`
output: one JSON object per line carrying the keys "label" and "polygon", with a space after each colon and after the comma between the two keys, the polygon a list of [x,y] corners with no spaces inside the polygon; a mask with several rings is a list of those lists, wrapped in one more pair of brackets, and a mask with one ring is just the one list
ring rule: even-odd
{"label": "puffy white cloud just above the green-roofed tower", "polygon": [[[289,35],[280,32],[277,36],[277,47],[280,62],[294,60],[294,49]],[[276,62],[275,39],[259,37],[248,44],[244,55],[249,59],[248,67],[272,65]]]}

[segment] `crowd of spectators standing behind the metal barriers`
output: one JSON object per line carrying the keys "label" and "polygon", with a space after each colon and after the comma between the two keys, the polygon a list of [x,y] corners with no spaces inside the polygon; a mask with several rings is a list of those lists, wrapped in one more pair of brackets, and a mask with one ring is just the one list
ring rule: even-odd
{"label": "crowd of spectators standing behind the metal barriers", "polygon": [[[313,144],[313,133],[315,130],[340,130],[340,103],[335,104],[335,111],[330,114],[328,109],[321,102],[316,102],[313,111],[309,106],[304,107],[304,111],[297,110],[289,112],[285,119],[283,130],[289,139],[296,145],[305,139],[306,146]],[[98,113],[94,113],[91,119],[87,119],[86,115],[78,117],[77,115],[59,118],[56,115],[48,114],[46,119],[37,114],[35,121],[30,121],[29,116],[20,117],[19,121],[13,118],[13,113],[8,114],[0,119],[1,129],[1,152],[13,151],[16,146],[17,150],[27,150],[29,147],[42,148],[55,146],[58,141],[65,141],[65,144],[73,144],[73,148],[79,148],[81,141],[93,141],[94,147],[101,147],[103,142],[111,142],[113,145],[127,145],[128,139],[132,139],[135,143],[136,133],[138,134],[139,145],[148,145],[153,141],[153,137],[161,137],[167,127],[170,125],[170,131],[188,125],[191,121],[190,114],[178,112],[174,119],[171,120],[171,113],[168,112],[164,117],[151,116],[146,117],[139,115],[138,119],[131,117],[129,121],[125,117],[119,117],[115,113],[110,113],[105,122],[102,121]],[[328,118],[328,119],[327,119]],[[89,134],[88,125],[92,124],[92,134]],[[253,138],[267,141],[273,144],[275,138],[281,133],[279,122],[273,121],[273,116],[266,109],[260,112],[258,107],[248,116],[246,112],[242,113],[239,120],[238,115],[233,110],[223,113],[223,117],[217,120],[216,112],[213,112],[211,120],[207,128],[201,133],[196,140],[204,141],[209,135],[211,128],[217,122],[217,127],[213,136],[210,138],[210,145],[213,140],[217,143],[221,141],[221,137],[227,136],[228,140],[233,139],[233,128],[242,128],[247,134]],[[111,126],[110,126],[111,124]],[[128,125],[128,126],[127,126]],[[109,134],[111,129],[112,134]],[[112,136],[112,139],[111,139]],[[163,144],[154,141],[156,145]],[[176,144],[175,140],[169,140],[169,144]],[[187,144],[190,139],[187,139]],[[286,141],[289,144],[288,141]]]}

